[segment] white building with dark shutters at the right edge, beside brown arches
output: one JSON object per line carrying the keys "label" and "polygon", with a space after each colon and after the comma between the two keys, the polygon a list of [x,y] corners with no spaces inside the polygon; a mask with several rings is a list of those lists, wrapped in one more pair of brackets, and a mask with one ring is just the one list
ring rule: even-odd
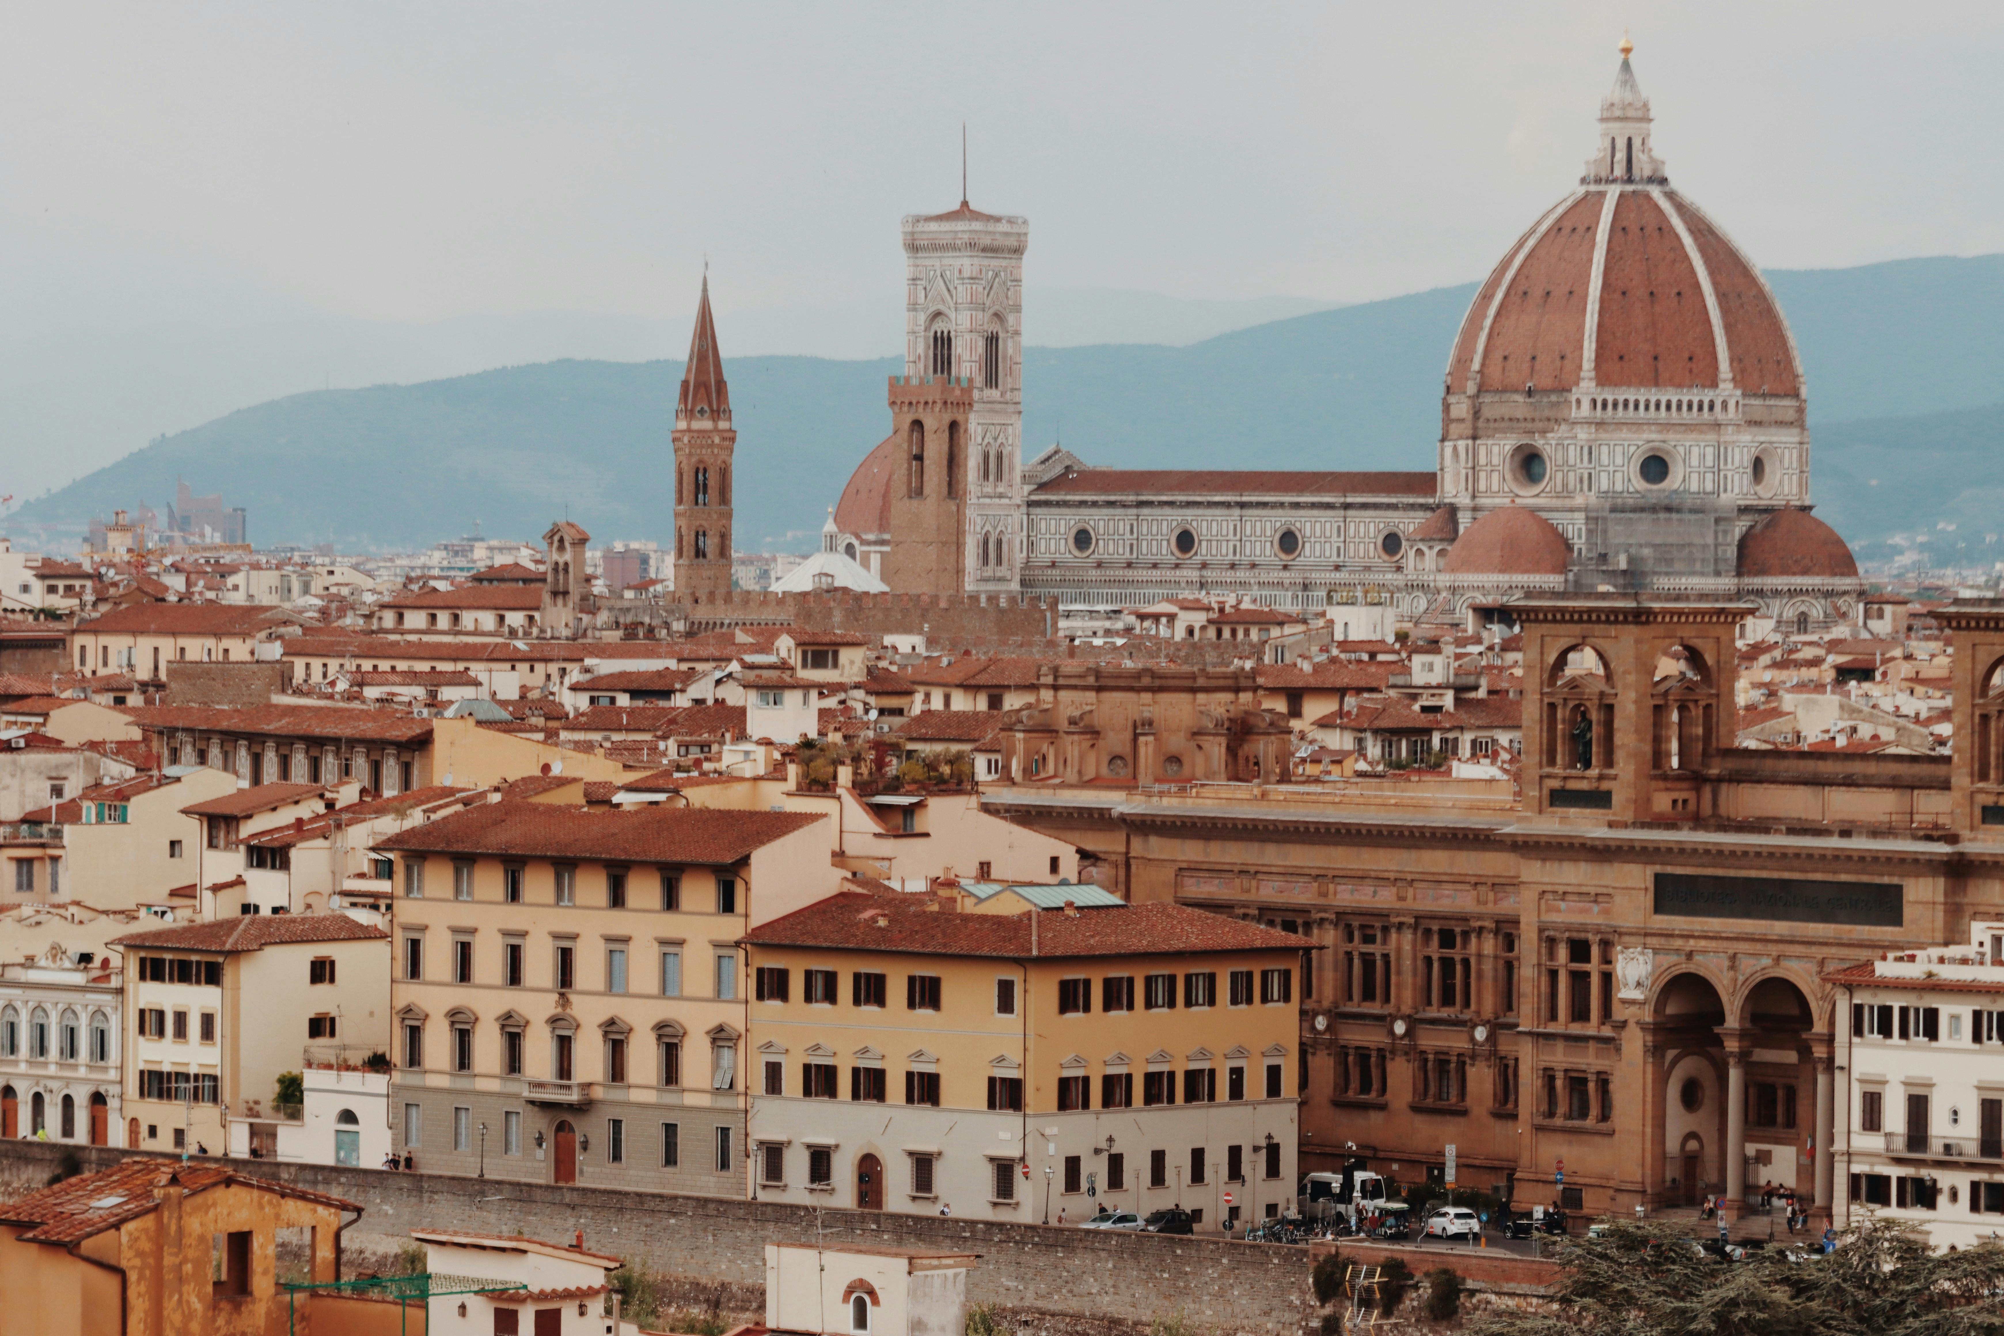
{"label": "white building with dark shutters at the right edge, beside brown arches", "polygon": [[2004,1238],[2004,921],[1838,985],[1838,1226],[1908,1220],[1936,1248]]}

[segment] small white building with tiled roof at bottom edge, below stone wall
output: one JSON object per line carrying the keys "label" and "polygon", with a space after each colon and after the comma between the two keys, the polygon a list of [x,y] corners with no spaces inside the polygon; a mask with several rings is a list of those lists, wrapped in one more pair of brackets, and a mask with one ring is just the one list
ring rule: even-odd
{"label": "small white building with tiled roof at bottom edge, below stone wall", "polygon": [[[605,1274],[619,1270],[619,1258],[585,1252],[583,1234],[575,1248],[505,1234],[455,1234],[411,1230],[425,1246],[425,1270],[433,1276],[499,1280],[521,1290],[441,1294],[425,1314],[429,1336],[605,1336]],[[812,1252],[810,1252],[812,1258]],[[623,1330],[631,1330],[621,1324]],[[960,1328],[954,1328],[960,1336]]]}

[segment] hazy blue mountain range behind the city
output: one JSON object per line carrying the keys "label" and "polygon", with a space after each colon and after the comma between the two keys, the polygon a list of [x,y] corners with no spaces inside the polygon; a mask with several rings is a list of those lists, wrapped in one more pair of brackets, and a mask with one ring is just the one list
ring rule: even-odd
{"label": "hazy blue mountain range behind the city", "polygon": [[[2004,421],[2004,256],[1772,270],[1768,280],[1808,375],[1818,511],[1866,559],[1922,537],[1964,565],[2004,557],[1986,553],[2004,549],[2004,523],[1986,519],[2004,501],[1992,427]],[[1068,326],[1128,328],[1148,343],[1028,349],[1026,457],[1062,439],[1088,463],[1120,467],[1433,467],[1441,373],[1473,284],[1182,347],[1206,322],[1271,310],[1150,310],[1126,296],[1098,302],[1098,316],[1084,298]],[[461,343],[479,345],[475,335]],[[481,337],[497,351],[509,339],[501,326]],[[615,351],[595,339],[581,326],[571,347]],[[725,371],[739,547],[812,547],[826,507],[888,431],[884,385],[902,365],[727,357]],[[473,529],[535,537],[561,513],[597,541],[665,543],[679,379],[675,361],[539,361],[287,395],[160,437],[24,505],[6,527],[24,543],[74,543],[94,515],[160,507],[186,479],[246,507],[259,545],[417,549]]]}

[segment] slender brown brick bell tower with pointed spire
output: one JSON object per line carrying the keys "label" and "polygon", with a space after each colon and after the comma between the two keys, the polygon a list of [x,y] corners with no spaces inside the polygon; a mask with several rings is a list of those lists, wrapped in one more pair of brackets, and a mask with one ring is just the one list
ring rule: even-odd
{"label": "slender brown brick bell tower with pointed spire", "polygon": [[675,593],[731,587],[731,391],[723,383],[717,326],[709,316],[709,274],[695,306],[689,365],[675,399]]}

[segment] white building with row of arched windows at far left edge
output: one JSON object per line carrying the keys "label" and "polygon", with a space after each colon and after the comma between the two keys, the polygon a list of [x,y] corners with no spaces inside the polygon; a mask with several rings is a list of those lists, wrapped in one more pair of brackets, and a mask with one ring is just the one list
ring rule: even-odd
{"label": "white building with row of arched windows at far left edge", "polygon": [[118,957],[50,943],[0,965],[0,1140],[110,1146],[120,1092]]}

